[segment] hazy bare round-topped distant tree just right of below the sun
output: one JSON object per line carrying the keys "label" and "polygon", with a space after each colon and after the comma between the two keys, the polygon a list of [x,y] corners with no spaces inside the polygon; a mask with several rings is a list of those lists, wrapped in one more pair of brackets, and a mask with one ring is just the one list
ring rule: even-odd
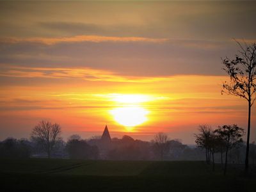
{"label": "hazy bare round-topped distant tree just right of below the sun", "polygon": [[164,159],[164,154],[166,154],[166,152],[168,152],[169,150],[168,141],[169,141],[169,138],[167,134],[163,132],[158,132],[154,136],[154,140],[153,140],[154,148],[157,154],[159,154],[161,160]]}

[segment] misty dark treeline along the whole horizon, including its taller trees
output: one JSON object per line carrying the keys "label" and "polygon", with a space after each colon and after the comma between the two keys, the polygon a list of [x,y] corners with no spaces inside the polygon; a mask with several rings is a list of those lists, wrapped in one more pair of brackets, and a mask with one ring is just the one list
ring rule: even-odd
{"label": "misty dark treeline along the whole horizon, including its taller trees", "polygon": [[[40,122],[31,131],[31,138],[0,141],[1,158],[70,158],[109,160],[203,161],[215,163],[243,163],[246,145],[241,140],[243,129],[237,125],[223,125],[211,129],[200,125],[195,134],[196,146],[170,140],[159,132],[152,141],[134,140],[131,136],[104,141],[100,136],[84,140],[72,135],[65,142],[60,137],[61,127],[51,122]],[[256,163],[256,145],[250,144],[250,163]]]}

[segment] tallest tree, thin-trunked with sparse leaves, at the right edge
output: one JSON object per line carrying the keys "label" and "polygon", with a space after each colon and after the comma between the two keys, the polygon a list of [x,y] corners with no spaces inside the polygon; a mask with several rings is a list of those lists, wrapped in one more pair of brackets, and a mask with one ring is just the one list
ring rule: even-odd
{"label": "tallest tree, thin-trunked with sparse leaves, at the right edge", "polygon": [[248,102],[248,128],[246,141],[245,172],[249,167],[249,146],[250,146],[250,127],[251,127],[251,108],[256,99],[256,44],[244,46],[237,42],[241,51],[236,54],[236,58],[230,60],[225,58],[225,72],[230,76],[230,81],[223,83],[223,90],[229,95],[241,97]]}

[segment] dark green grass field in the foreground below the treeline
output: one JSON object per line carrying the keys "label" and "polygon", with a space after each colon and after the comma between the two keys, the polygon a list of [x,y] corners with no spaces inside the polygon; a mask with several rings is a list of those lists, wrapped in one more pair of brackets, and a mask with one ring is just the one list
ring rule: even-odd
{"label": "dark green grass field in the foreground below the treeline", "polygon": [[[255,191],[256,179],[200,161],[0,159],[4,191]],[[2,191],[2,190],[1,190]]]}

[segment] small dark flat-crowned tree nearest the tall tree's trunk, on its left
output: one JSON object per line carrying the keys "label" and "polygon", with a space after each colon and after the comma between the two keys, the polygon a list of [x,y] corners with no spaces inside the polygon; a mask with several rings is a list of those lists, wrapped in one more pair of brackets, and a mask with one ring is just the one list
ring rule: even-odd
{"label": "small dark flat-crowned tree nearest the tall tree's trunk, on its left", "polygon": [[219,126],[218,129],[214,131],[218,134],[218,137],[225,141],[225,167],[224,167],[224,175],[227,172],[227,159],[228,159],[228,150],[232,149],[239,145],[239,143],[243,142],[242,136],[244,134],[244,129],[238,127],[237,125],[223,125]]}

